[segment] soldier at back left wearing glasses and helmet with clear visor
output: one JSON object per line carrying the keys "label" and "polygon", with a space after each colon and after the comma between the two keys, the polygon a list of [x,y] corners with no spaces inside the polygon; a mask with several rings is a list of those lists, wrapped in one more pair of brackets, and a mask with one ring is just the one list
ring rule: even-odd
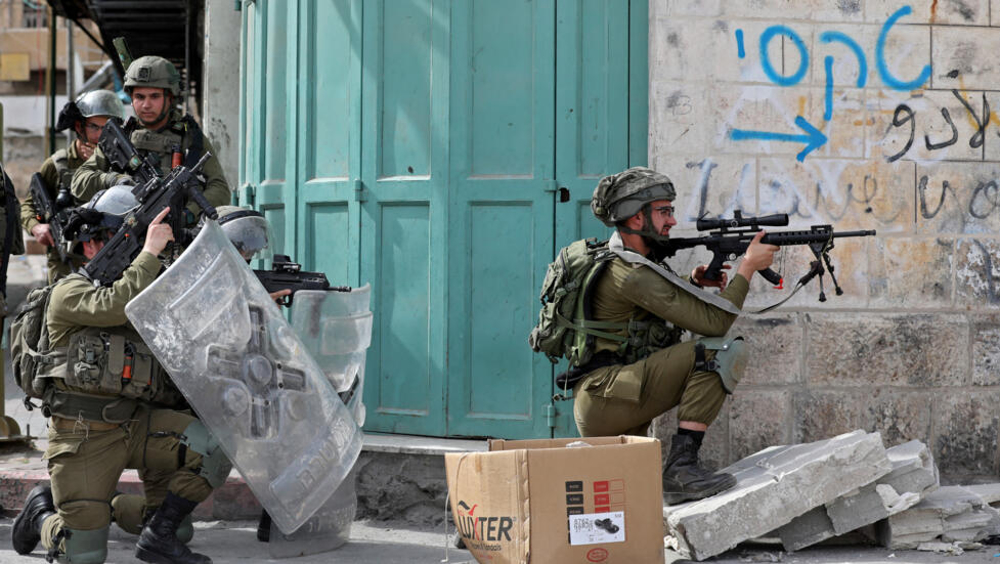
{"label": "soldier at back left wearing glasses and helmet with clear visor", "polygon": [[[94,153],[97,139],[101,136],[101,128],[109,118],[125,119],[121,101],[109,90],[92,90],[81,94],[75,101],[68,102],[59,112],[56,131],[73,128],[76,139],[67,148],[59,149],[45,159],[39,171],[53,202],[63,207],[74,205],[75,202],[69,196],[73,173]],[[21,226],[31,233],[36,241],[48,247],[46,255],[49,284],[72,272],[72,266],[59,258],[55,241],[49,231],[49,224],[38,220],[31,194],[21,202]]]}

